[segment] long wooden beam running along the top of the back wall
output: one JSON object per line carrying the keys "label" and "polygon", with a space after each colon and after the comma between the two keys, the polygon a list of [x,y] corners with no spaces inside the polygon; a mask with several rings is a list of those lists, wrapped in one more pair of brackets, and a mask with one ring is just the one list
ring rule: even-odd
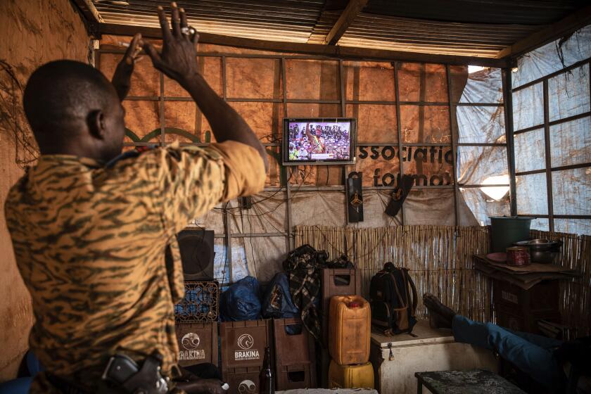
{"label": "long wooden beam running along the top of the back wall", "polygon": [[[141,33],[146,38],[162,38],[159,27],[134,25],[114,25],[100,23],[98,32],[131,37]],[[442,63],[450,65],[481,65],[483,67],[504,68],[509,63],[506,59],[480,58],[474,56],[438,55],[434,53],[389,51],[387,49],[360,48],[356,46],[335,46],[323,44],[305,44],[298,42],[277,42],[262,39],[230,37],[221,34],[199,32],[199,42],[237,48],[256,49],[259,51],[275,51],[286,53],[302,53],[312,56],[326,56],[342,59],[367,59],[371,61],[407,61],[419,63]]]}

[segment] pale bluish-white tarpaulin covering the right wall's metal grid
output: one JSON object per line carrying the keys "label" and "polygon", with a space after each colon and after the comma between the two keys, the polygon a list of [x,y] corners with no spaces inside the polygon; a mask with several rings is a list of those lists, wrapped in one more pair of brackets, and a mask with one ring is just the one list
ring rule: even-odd
{"label": "pale bluish-white tarpaulin covering the right wall's metal grid", "polygon": [[[519,58],[513,73],[513,87],[533,82],[591,58],[591,26],[568,39],[557,40]],[[549,122],[588,113],[591,110],[589,63],[562,72],[548,80]],[[513,95],[514,129],[540,126],[515,136],[516,172],[543,170],[545,162],[544,92],[542,82]],[[549,151],[552,167],[591,162],[591,118],[578,117],[550,125]],[[554,215],[591,214],[591,167],[552,171],[552,185],[545,173],[516,177],[517,212],[547,215],[547,186],[552,190]],[[534,229],[548,230],[549,221],[538,219]],[[555,231],[591,234],[591,220],[555,219]]]}

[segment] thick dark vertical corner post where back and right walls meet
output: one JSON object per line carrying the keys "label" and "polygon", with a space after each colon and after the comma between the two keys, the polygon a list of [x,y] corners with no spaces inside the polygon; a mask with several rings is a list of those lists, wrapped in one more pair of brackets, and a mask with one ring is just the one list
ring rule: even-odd
{"label": "thick dark vertical corner post where back and right walls meet", "polygon": [[515,182],[515,138],[513,134],[513,91],[511,68],[504,68],[503,102],[505,112],[505,139],[507,140],[507,169],[509,170],[509,206],[511,216],[517,215],[517,187]]}

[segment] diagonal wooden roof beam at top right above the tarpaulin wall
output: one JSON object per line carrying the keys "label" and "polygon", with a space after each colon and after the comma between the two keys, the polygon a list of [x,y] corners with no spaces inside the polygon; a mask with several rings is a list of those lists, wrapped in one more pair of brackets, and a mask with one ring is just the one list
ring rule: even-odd
{"label": "diagonal wooden roof beam at top right above the tarpaulin wall", "polygon": [[585,27],[591,23],[591,6],[586,6],[577,10],[566,18],[553,23],[544,29],[531,34],[530,36],[521,39],[515,44],[509,45],[497,53],[497,58],[516,58],[529,51],[540,48],[540,46],[548,44],[556,39],[564,37],[566,34],[571,34],[581,27]]}

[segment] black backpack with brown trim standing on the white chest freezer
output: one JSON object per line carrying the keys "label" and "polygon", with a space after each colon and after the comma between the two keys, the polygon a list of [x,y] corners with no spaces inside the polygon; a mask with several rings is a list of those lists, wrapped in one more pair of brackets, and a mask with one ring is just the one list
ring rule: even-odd
{"label": "black backpack with brown trim standing on the white chest freezer", "polygon": [[[412,300],[411,300],[412,291]],[[371,278],[371,324],[391,336],[395,333],[411,333],[417,324],[417,288],[408,269],[396,268],[386,262],[383,270]]]}

